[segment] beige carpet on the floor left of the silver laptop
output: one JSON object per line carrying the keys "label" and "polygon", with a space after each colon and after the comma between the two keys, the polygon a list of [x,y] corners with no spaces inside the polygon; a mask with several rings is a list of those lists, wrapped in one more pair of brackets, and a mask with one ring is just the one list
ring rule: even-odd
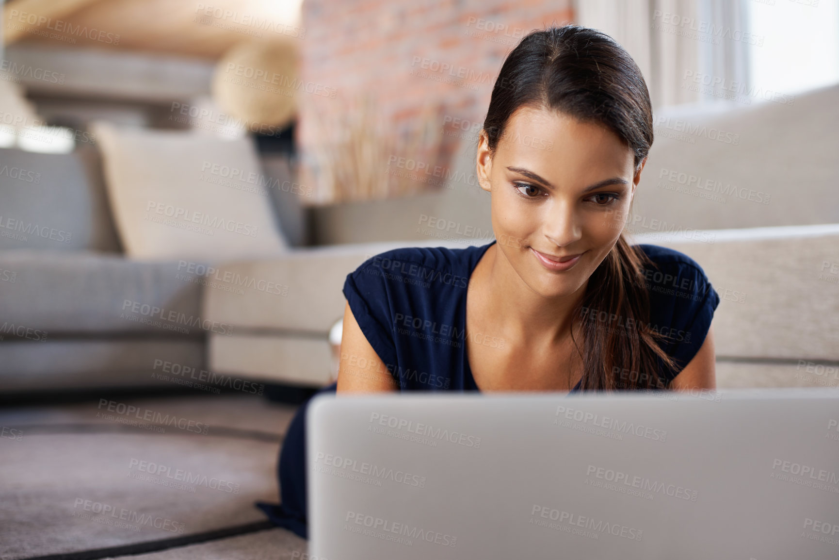
{"label": "beige carpet on the floor left of the silver laptop", "polygon": [[[278,500],[277,454],[293,414],[247,395],[0,411],[0,558],[72,555],[265,521],[253,502]],[[246,537],[201,546],[273,538],[270,557],[287,557],[276,556],[277,546],[305,547],[281,529]],[[196,547],[158,554],[180,548]]]}

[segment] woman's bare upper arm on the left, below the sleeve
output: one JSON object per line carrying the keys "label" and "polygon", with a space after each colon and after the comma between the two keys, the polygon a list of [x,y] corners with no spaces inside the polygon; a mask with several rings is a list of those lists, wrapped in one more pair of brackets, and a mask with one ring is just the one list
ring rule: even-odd
{"label": "woman's bare upper arm on the left, below the sleeve", "polygon": [[397,390],[396,382],[384,362],[373,350],[350,310],[344,306],[341,334],[341,361],[338,364],[336,393],[378,393]]}

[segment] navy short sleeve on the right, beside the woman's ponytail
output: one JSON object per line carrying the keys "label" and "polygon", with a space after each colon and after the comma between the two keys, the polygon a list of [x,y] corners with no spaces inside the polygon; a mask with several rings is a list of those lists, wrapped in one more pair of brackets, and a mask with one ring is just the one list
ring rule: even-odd
{"label": "navy short sleeve on the right, beside the woman's ponytail", "polygon": [[675,362],[666,372],[667,383],[685,369],[696,356],[711,328],[714,311],[720,303],[717,290],[705,271],[687,255],[671,250],[670,259],[661,259],[654,271],[647,271],[650,296],[650,327],[667,335],[664,351]]}

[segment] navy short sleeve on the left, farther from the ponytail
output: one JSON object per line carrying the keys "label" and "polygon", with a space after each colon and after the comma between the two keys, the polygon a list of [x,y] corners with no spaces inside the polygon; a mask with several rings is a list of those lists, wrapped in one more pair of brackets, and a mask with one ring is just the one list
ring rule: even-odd
{"label": "navy short sleeve on the left, farther from the ponytail", "polygon": [[[380,259],[367,259],[347,275],[343,293],[367,342],[388,369],[397,364],[390,313],[390,290]],[[393,374],[393,371],[391,371]]]}

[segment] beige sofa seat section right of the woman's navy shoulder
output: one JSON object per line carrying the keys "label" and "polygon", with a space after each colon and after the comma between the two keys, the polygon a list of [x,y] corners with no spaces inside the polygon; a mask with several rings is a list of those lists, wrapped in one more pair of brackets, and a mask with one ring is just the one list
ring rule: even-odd
{"label": "beige sofa seat section right of the woman's navy shoulder", "polygon": [[721,298],[712,323],[717,359],[839,360],[839,224],[635,239],[701,264]]}

